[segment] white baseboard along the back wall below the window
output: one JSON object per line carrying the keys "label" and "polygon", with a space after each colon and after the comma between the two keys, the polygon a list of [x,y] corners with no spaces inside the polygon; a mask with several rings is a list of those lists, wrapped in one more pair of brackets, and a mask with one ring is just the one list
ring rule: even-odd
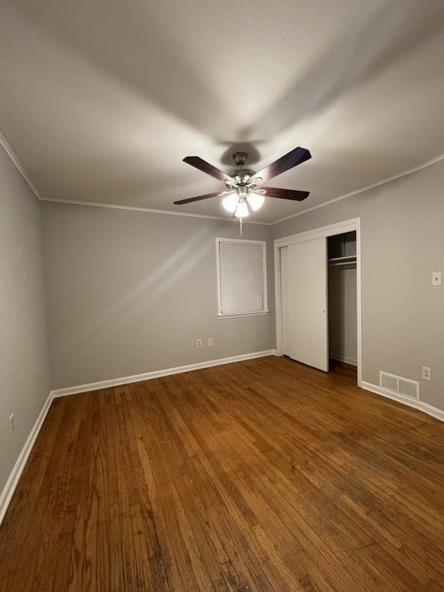
{"label": "white baseboard along the back wall below the window", "polygon": [[207,362],[198,362],[198,364],[188,364],[187,366],[177,366],[176,368],[167,368],[164,370],[155,370],[146,374],[136,374],[134,376],[124,376],[123,378],[112,378],[111,380],[101,380],[100,382],[89,382],[89,384],[79,384],[77,387],[67,387],[66,389],[56,389],[51,391],[53,397],[65,397],[86,393],[88,391],[97,391],[99,389],[109,389],[110,387],[119,387],[120,384],[130,384],[131,382],[142,382],[142,380],[151,380],[152,378],[161,378],[171,374],[180,374],[190,372],[191,370],[200,370],[210,368],[211,366],[221,366],[222,364],[232,364],[232,362],[241,362],[242,360],[254,360],[256,357],[265,357],[266,355],[276,355],[276,350],[257,351],[254,353],[245,353],[242,355],[233,355],[223,357],[220,360],[208,360]]}

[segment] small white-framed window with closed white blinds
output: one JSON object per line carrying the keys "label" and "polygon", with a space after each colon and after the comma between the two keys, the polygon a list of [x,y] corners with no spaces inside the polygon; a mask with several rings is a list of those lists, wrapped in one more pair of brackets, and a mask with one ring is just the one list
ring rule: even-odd
{"label": "small white-framed window with closed white blinds", "polygon": [[218,316],[267,314],[266,243],[216,239]]}

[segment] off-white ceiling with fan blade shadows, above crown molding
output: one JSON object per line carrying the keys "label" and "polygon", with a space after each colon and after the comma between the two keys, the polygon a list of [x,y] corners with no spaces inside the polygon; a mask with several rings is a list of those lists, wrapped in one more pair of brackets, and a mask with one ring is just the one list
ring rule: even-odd
{"label": "off-white ceiling with fan blade shadows, above crown molding", "polygon": [[271,223],[444,152],[442,0],[1,0],[0,130],[42,198],[230,217],[182,162],[259,170]]}

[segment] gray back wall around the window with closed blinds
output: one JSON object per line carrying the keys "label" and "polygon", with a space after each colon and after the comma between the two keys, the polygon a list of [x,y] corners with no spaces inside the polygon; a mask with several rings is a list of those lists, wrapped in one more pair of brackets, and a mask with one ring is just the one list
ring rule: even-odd
{"label": "gray back wall around the window with closed blinds", "polygon": [[273,314],[217,318],[215,237],[239,237],[237,223],[49,202],[42,214],[53,389],[274,348]]}

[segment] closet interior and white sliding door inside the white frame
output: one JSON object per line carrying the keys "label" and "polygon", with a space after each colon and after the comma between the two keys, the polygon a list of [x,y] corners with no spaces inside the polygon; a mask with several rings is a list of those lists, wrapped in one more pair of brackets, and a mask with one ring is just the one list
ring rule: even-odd
{"label": "closet interior and white sliding door inside the white frame", "polygon": [[357,365],[356,231],[279,246],[282,353],[329,370]]}

